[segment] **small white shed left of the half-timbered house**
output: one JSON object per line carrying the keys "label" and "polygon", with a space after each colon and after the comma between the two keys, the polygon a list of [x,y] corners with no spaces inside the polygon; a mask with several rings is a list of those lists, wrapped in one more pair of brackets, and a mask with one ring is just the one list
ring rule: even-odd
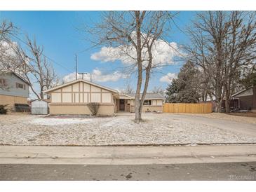
{"label": "small white shed left of the half-timbered house", "polygon": [[33,115],[47,115],[49,114],[48,100],[33,100],[31,102],[31,113]]}

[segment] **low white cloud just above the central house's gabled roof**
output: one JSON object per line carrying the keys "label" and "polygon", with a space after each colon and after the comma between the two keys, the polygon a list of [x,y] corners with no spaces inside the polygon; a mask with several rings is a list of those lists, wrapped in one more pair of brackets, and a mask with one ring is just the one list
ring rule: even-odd
{"label": "low white cloud just above the central house's gabled roof", "polygon": [[[78,78],[82,78],[81,74],[78,74]],[[122,74],[120,71],[114,71],[112,74],[102,74],[100,69],[93,69],[92,72],[92,81],[97,82],[106,82],[106,81],[118,81],[120,78],[127,78],[125,74]],[[68,74],[63,77],[64,83],[73,81],[76,79],[76,72]],[[90,74],[84,74],[83,79],[90,81]]]}

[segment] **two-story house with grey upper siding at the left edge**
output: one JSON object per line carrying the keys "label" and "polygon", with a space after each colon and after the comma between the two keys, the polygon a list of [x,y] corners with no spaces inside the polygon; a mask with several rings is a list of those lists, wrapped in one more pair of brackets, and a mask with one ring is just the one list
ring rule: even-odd
{"label": "two-story house with grey upper siding at the left edge", "polygon": [[27,104],[29,83],[13,72],[0,72],[0,104],[8,104],[15,111],[15,105]]}

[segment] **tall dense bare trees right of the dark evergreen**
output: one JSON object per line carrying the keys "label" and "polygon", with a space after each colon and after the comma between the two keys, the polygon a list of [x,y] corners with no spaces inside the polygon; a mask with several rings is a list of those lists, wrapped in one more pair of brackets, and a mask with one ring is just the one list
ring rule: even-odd
{"label": "tall dense bare trees right of the dark evergreen", "polygon": [[188,30],[189,59],[203,69],[204,88],[215,97],[217,112],[221,111],[224,98],[229,112],[229,100],[241,68],[255,60],[255,30],[255,12],[242,11],[197,13]]}

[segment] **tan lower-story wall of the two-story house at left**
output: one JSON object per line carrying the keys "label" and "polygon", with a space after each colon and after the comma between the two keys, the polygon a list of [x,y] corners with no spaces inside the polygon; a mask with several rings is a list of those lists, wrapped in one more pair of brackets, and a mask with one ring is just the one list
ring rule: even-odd
{"label": "tan lower-story wall of the two-story house at left", "polygon": [[8,104],[6,108],[13,110],[14,104],[27,104],[27,97],[0,95],[0,104]]}

